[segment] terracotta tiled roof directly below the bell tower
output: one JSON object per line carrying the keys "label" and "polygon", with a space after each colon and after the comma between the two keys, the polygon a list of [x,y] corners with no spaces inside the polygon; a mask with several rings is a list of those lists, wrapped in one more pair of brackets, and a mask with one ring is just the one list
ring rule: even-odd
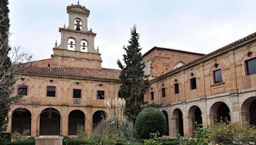
{"label": "terracotta tiled roof directly below the bell tower", "polygon": [[46,76],[88,78],[119,81],[120,70],[118,69],[86,69],[81,67],[36,67],[29,66],[22,74],[37,74]]}

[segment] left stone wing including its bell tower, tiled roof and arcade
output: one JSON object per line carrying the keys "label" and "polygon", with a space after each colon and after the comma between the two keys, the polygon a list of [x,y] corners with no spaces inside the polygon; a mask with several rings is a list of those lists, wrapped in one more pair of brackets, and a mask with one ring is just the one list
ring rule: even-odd
{"label": "left stone wing including its bell tower, tiled roof and arcade", "polygon": [[94,48],[96,34],[87,28],[90,11],[76,4],[68,6],[67,13],[69,25],[60,28],[61,43],[56,42],[52,58],[31,62],[17,78],[16,90],[26,86],[23,99],[28,102],[12,106],[7,132],[29,129],[32,136],[76,135],[80,123],[91,134],[108,115],[104,100],[118,97],[120,70],[101,67],[99,50]]}

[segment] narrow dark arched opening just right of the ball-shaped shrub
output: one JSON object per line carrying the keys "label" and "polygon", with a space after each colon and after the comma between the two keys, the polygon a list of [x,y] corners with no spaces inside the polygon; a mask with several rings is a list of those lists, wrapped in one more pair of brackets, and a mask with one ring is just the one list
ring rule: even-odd
{"label": "narrow dark arched opening just right of the ball-shaped shrub", "polygon": [[175,120],[174,122],[174,129],[177,130],[177,132],[181,135],[184,136],[184,126],[183,126],[183,113],[179,108],[176,108],[173,111],[173,119]]}

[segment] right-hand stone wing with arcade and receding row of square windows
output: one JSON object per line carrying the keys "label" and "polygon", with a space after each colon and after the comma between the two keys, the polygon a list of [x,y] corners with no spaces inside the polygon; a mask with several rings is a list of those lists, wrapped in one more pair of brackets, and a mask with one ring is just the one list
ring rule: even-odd
{"label": "right-hand stone wing with arcade and receding row of square windows", "polygon": [[[144,100],[162,104],[161,109],[168,116],[170,137],[175,137],[177,131],[193,135],[196,118],[203,125],[220,121],[220,116],[256,125],[256,74],[246,72],[246,60],[256,59],[255,39],[256,34],[251,34],[150,80]],[[222,81],[216,83],[214,73],[218,70],[222,71]],[[195,89],[191,89],[191,78],[196,79]],[[179,93],[175,93],[175,84],[179,85]]]}

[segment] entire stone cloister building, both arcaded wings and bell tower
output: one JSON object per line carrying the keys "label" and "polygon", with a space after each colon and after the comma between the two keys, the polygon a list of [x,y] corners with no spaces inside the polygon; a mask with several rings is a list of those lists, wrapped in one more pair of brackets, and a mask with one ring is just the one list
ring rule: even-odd
{"label": "entire stone cloister building, both arcaded wings and bell tower", "polygon": [[[7,132],[76,135],[80,124],[91,134],[108,116],[104,100],[118,97],[120,70],[101,66],[96,33],[87,26],[90,11],[75,4],[67,13],[51,59],[31,62],[17,78],[16,93],[26,101],[12,106]],[[193,135],[216,121],[256,125],[256,33],[209,54],[155,46],[143,63],[150,80],[144,101],[161,104],[165,135]]]}

